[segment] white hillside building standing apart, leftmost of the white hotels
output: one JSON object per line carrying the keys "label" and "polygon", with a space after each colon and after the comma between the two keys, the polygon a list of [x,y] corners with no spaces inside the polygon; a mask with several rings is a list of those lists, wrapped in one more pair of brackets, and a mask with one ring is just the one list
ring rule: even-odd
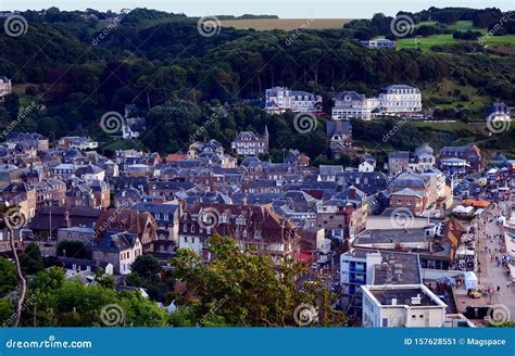
{"label": "white hillside building standing apart, leftmost of the white hotels", "polygon": [[291,110],[294,113],[316,112],[322,97],[306,91],[275,87],[265,91],[265,110],[271,113],[282,113]]}

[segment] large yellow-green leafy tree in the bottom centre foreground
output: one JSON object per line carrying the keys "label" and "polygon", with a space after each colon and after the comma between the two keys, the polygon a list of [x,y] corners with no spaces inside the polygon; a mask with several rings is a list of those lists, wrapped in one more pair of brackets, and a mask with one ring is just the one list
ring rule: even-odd
{"label": "large yellow-green leafy tree in the bottom centre foreground", "polygon": [[[177,298],[177,303],[202,316],[198,323],[342,325],[341,313],[331,308],[336,295],[328,290],[327,281],[309,280],[306,266],[293,260],[275,265],[269,256],[241,251],[235,240],[219,236],[210,240],[210,252],[214,256],[210,264],[189,250],[179,250],[172,262],[177,279],[194,295],[192,300]],[[299,313],[304,307],[310,308],[313,319],[301,323]]]}

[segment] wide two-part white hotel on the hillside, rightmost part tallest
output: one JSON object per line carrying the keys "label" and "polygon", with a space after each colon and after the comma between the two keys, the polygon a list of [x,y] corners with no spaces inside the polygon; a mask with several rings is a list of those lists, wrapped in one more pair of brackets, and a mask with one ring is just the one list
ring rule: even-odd
{"label": "wide two-part white hotel on the hillside, rightmost part tallest", "polygon": [[332,119],[370,119],[377,114],[403,114],[422,111],[420,90],[404,85],[382,88],[379,98],[366,98],[355,91],[343,91],[334,97]]}

